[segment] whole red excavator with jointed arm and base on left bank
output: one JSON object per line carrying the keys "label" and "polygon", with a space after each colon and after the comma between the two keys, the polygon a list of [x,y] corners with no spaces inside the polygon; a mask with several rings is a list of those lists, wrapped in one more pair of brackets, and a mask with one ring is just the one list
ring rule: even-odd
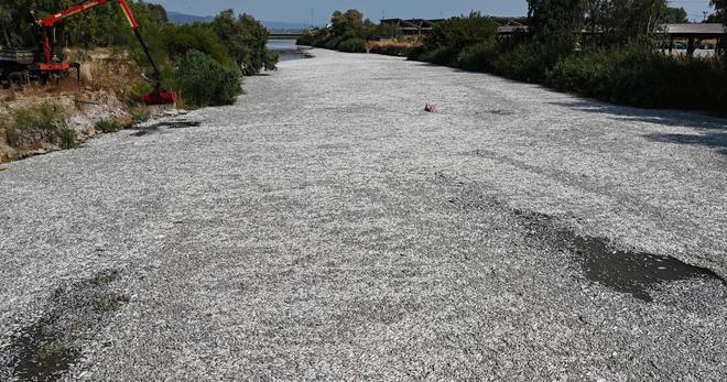
{"label": "whole red excavator with jointed arm and base on left bank", "polygon": [[176,92],[165,90],[162,87],[161,73],[159,72],[159,66],[156,65],[154,57],[152,57],[151,53],[149,52],[149,46],[144,42],[144,39],[141,36],[141,32],[139,31],[139,23],[137,22],[137,19],[131,12],[131,8],[129,7],[127,0],[87,0],[74,7],[70,7],[64,11],[53,13],[42,20],[35,19],[34,12],[31,12],[33,14],[33,19],[35,19],[34,21],[36,25],[42,29],[41,39],[43,45],[42,59],[33,63],[33,69],[39,74],[39,77],[42,78],[43,80],[51,78],[53,76],[66,74],[72,68],[75,68],[77,73],[79,73],[79,67],[80,67],[79,64],[65,63],[55,59],[53,55],[53,40],[51,39],[53,34],[53,29],[63,20],[74,14],[78,14],[91,10],[96,7],[100,7],[106,4],[107,2],[112,2],[112,1],[117,1],[119,6],[121,6],[121,10],[126,14],[127,20],[129,21],[129,25],[131,25],[134,35],[139,40],[139,43],[141,44],[141,47],[143,48],[144,54],[147,55],[147,58],[149,58],[149,62],[151,63],[151,66],[154,70],[152,77],[149,79],[152,86],[154,87],[154,90],[144,96],[144,103],[147,105],[175,103]]}

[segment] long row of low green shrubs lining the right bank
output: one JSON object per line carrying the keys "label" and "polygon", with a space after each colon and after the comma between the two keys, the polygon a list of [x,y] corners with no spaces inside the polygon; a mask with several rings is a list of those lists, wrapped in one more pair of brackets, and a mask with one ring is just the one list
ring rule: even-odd
{"label": "long row of low green shrubs lining the right bank", "polygon": [[724,59],[668,56],[644,41],[563,53],[556,43],[530,36],[497,41],[488,23],[478,13],[443,22],[409,58],[621,105],[727,113]]}

